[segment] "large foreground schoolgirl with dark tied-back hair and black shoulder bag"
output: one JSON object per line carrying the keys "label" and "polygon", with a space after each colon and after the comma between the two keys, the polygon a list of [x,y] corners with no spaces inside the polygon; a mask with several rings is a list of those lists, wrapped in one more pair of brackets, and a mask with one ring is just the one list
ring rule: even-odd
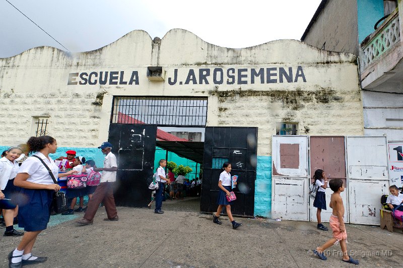
{"label": "large foreground schoolgirl with dark tied-back hair and black shoulder bag", "polygon": [[[57,149],[56,140],[50,136],[31,137],[28,142],[29,151],[36,152],[54,177],[69,176],[76,171],[58,174],[58,167],[49,154],[54,154]],[[9,254],[9,266],[21,267],[22,265],[46,261],[47,257],[35,257],[31,254],[36,237],[46,229],[50,217],[53,192],[60,190],[58,184],[54,184],[47,168],[36,157],[25,160],[14,180],[14,185],[21,187],[20,208],[18,213],[19,227],[24,228],[25,233],[17,248]]]}

